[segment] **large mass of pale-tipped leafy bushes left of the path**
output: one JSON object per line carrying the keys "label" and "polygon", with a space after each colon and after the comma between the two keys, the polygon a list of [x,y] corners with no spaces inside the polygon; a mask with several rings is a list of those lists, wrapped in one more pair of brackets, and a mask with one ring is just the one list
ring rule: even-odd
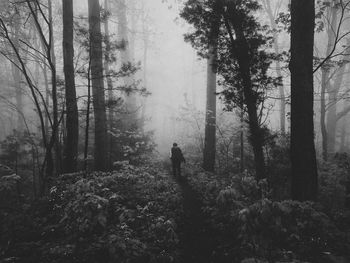
{"label": "large mass of pale-tipped leafy bushes left of the path", "polygon": [[17,228],[27,225],[23,232],[35,238],[18,237],[5,256],[21,258],[25,250],[37,262],[175,262],[182,200],[159,170],[125,165],[112,173],[62,175],[49,198],[21,216],[32,219]]}

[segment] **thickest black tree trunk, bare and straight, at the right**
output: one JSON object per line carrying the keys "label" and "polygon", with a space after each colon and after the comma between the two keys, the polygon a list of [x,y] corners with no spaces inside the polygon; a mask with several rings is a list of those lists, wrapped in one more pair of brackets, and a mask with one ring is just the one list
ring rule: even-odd
{"label": "thickest black tree trunk, bare and straight, at the right", "polygon": [[315,200],[318,175],[313,122],[315,1],[291,0],[292,198]]}

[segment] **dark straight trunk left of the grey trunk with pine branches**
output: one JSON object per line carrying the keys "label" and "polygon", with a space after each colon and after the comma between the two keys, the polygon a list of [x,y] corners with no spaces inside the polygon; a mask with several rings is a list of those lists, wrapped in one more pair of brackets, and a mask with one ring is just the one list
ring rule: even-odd
{"label": "dark straight trunk left of the grey trunk with pine branches", "polygon": [[65,172],[77,169],[79,117],[74,78],[73,47],[73,0],[62,0],[63,13],[63,61],[66,91],[66,128],[67,138],[64,147]]}

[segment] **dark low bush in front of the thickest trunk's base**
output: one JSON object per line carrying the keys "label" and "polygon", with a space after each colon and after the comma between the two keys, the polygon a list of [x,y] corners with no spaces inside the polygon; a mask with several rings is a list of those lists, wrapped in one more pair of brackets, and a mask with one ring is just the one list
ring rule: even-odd
{"label": "dark low bush in front of the thickest trunk's base", "polygon": [[324,252],[346,254],[349,248],[345,236],[312,203],[262,199],[236,215],[246,255],[269,262],[291,253],[320,262]]}

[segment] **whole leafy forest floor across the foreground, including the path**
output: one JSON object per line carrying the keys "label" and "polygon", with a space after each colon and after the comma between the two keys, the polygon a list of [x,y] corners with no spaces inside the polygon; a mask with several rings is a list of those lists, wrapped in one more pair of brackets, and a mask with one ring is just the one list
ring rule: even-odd
{"label": "whole leafy forest floor across the foreground, including the path", "polygon": [[178,178],[169,166],[62,175],[33,203],[0,191],[12,205],[0,209],[0,263],[350,262],[350,213],[332,221],[313,204],[262,198],[252,176],[186,164]]}

